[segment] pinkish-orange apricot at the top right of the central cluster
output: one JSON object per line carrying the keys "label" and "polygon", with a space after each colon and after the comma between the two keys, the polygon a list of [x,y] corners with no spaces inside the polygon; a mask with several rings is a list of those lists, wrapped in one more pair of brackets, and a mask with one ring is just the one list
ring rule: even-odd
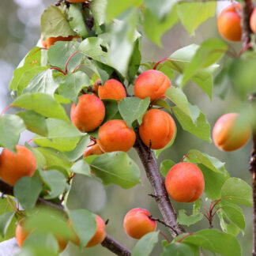
{"label": "pinkish-orange apricot at the top right of the central cluster", "polygon": [[141,73],[134,84],[134,95],[138,98],[156,100],[163,96],[171,86],[171,81],[159,70],[146,70]]}

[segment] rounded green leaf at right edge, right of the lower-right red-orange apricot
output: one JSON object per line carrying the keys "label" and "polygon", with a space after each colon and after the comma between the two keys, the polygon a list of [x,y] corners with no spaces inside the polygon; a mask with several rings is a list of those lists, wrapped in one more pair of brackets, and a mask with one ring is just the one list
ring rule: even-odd
{"label": "rounded green leaf at right edge, right of the lower-right red-orange apricot", "polygon": [[252,206],[251,187],[242,179],[228,179],[221,188],[221,197],[235,204]]}

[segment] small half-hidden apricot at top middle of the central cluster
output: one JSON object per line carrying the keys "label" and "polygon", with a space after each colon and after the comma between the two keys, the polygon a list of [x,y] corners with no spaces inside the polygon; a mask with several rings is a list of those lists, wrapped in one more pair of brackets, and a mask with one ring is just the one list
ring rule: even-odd
{"label": "small half-hidden apricot at top middle of the central cluster", "polygon": [[126,97],[126,89],[119,81],[109,79],[104,86],[99,86],[98,94],[102,100],[122,100]]}

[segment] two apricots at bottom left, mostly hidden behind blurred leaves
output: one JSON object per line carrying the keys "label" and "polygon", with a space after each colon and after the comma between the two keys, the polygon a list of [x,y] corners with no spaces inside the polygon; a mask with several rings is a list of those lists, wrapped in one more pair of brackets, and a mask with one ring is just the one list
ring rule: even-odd
{"label": "two apricots at bottom left, mostly hidden behind blurred leaves", "polygon": [[[25,220],[26,219],[24,218],[20,220],[16,228],[16,239],[19,247],[23,246],[24,240],[27,239],[28,235],[30,235],[30,233],[32,232],[31,230],[27,230],[24,228]],[[67,223],[70,225],[71,232],[72,232],[70,241],[75,245],[80,246],[80,239],[77,236],[76,232],[74,232],[70,219],[67,220]],[[100,216],[96,215],[96,232],[92,236],[92,239],[88,241],[85,247],[86,248],[95,247],[99,243],[102,243],[106,237],[105,228],[106,228],[106,224],[104,223],[104,220],[102,220]],[[62,252],[63,250],[65,250],[66,245],[69,242],[69,239],[63,239],[58,235],[55,235],[55,237],[58,241],[59,252]]]}

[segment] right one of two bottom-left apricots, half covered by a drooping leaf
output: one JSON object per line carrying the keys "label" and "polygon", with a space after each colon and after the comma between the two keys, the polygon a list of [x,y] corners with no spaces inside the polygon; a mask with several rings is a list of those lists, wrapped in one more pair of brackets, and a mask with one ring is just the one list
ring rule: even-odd
{"label": "right one of two bottom-left apricots, half covered by a drooping leaf", "polygon": [[[71,225],[71,222],[69,220],[69,224],[70,227],[73,230],[73,227]],[[99,243],[102,243],[103,240],[106,237],[106,224],[104,223],[104,220],[102,220],[102,218],[98,215],[96,215],[96,232],[95,234],[92,236],[92,239],[90,239],[87,243],[87,245],[85,246],[86,248],[88,247],[95,247],[96,245],[98,245]],[[71,240],[75,245],[79,246],[80,245],[80,239],[77,236],[77,234],[74,232],[73,230],[73,239]]]}

